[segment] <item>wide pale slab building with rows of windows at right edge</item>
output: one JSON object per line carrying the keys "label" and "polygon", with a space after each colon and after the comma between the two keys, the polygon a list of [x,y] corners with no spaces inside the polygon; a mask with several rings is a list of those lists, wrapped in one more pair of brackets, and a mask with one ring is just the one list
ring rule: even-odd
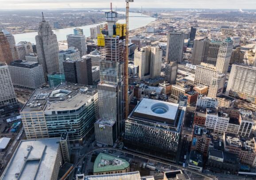
{"label": "wide pale slab building with rows of windows at right edge", "polygon": [[226,95],[256,104],[256,67],[232,65]]}

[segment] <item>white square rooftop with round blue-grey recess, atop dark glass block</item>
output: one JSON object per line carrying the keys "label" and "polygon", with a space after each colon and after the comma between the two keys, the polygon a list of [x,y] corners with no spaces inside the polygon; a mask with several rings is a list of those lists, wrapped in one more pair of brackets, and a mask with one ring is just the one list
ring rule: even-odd
{"label": "white square rooftop with round blue-grey recess, atop dark glass block", "polygon": [[134,112],[174,120],[176,118],[177,111],[178,104],[176,103],[144,98],[140,101]]}

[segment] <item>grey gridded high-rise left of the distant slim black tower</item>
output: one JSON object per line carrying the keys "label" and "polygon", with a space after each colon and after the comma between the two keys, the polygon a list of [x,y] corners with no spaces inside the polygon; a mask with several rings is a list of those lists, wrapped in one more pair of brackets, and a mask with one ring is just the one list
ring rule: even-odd
{"label": "grey gridded high-rise left of the distant slim black tower", "polygon": [[167,36],[166,62],[182,62],[185,34],[179,31],[169,31]]}

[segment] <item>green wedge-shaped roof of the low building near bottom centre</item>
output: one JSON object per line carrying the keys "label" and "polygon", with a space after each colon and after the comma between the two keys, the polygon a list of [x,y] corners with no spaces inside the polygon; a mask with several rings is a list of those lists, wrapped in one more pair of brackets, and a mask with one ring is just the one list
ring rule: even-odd
{"label": "green wedge-shaped roof of the low building near bottom centre", "polygon": [[[118,161],[119,164],[111,165],[111,162]],[[119,157],[111,156],[105,153],[99,153],[94,165],[93,172],[108,172],[108,171],[119,171],[129,167],[129,163]]]}

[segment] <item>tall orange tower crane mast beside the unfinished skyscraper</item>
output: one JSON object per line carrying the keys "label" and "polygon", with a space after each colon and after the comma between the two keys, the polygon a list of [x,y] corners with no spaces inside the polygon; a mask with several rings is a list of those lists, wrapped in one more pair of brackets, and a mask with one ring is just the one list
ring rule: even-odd
{"label": "tall orange tower crane mast beside the unfinished skyscraper", "polygon": [[124,99],[125,99],[125,119],[128,118],[129,104],[128,104],[128,62],[129,62],[129,3],[134,0],[125,0],[126,2],[126,36],[125,36],[125,63],[124,63]]}

